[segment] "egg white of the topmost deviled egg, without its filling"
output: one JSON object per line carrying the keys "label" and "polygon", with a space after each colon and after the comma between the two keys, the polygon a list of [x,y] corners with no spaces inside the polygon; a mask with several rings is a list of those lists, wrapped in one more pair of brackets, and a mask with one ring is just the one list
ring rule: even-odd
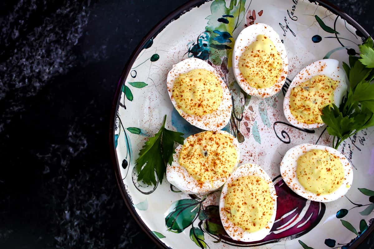
{"label": "egg white of the topmost deviled egg, without its filling", "polygon": [[[246,47],[256,41],[257,35],[265,35],[268,37],[276,47],[277,51],[280,53],[282,59],[282,72],[278,78],[276,84],[268,88],[255,88],[251,87],[245,80],[243,74],[240,72],[239,69],[239,59],[242,56]],[[236,78],[237,83],[240,87],[249,95],[257,96],[260,98],[267,98],[273,96],[274,94],[278,93],[281,89],[283,84],[286,81],[287,73],[288,73],[288,58],[284,44],[279,38],[279,35],[275,30],[266,24],[252,24],[245,29],[243,29],[238,37],[235,40],[234,44],[234,51],[233,51],[233,72]]]}

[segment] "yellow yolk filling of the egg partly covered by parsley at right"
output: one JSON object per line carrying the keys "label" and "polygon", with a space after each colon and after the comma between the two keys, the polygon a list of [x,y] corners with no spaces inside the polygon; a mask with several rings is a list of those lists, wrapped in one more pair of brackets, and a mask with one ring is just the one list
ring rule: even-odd
{"label": "yellow yolk filling of the egg partly covered by parsley at right", "polygon": [[322,124],[322,109],[334,102],[334,90],[339,81],[317,75],[291,89],[289,110],[304,124]]}

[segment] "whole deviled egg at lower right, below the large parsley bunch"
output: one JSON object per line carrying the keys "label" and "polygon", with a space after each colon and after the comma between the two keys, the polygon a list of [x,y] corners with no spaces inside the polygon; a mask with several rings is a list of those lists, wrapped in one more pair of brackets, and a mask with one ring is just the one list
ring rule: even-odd
{"label": "whole deviled egg at lower right, below the large parsley bunch", "polygon": [[286,152],[281,175],[295,193],[317,202],[331,202],[344,196],[353,181],[352,166],[342,153],[307,143]]}

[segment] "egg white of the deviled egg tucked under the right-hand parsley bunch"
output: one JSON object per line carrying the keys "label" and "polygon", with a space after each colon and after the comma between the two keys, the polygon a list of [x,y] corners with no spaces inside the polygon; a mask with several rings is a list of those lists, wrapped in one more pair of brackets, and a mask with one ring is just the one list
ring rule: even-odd
{"label": "egg white of the deviled egg tucked under the right-hand parsley bunch", "polygon": [[334,103],[336,106],[339,107],[341,100],[343,99],[343,96],[347,91],[346,73],[343,69],[339,68],[339,62],[337,60],[318,60],[306,66],[295,76],[291,84],[289,84],[287,93],[284,96],[283,100],[283,111],[286,119],[290,124],[298,128],[313,129],[324,125],[324,123],[305,124],[299,122],[297,121],[297,119],[294,118],[294,116],[291,114],[291,111],[289,110],[289,96],[291,94],[292,88],[296,87],[297,85],[300,85],[301,83],[304,83],[305,81],[310,80],[310,78],[317,75],[326,75],[327,77],[330,77],[332,80],[340,82],[334,90]]}

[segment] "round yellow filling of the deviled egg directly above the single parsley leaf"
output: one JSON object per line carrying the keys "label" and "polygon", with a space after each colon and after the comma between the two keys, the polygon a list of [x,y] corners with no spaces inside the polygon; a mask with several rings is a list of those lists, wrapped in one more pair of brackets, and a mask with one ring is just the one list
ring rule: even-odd
{"label": "round yellow filling of the deviled egg directly above the single parsley leaf", "polygon": [[222,102],[222,92],[220,79],[206,69],[181,74],[172,89],[178,107],[195,116],[216,111]]}

